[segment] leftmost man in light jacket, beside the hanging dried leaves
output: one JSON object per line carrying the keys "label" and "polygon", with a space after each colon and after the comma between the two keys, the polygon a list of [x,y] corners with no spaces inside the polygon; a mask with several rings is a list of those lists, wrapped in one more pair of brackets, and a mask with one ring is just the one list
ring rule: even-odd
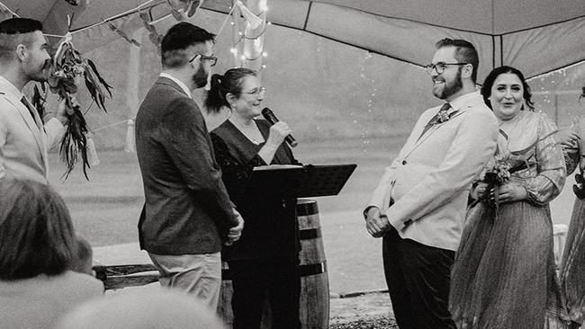
{"label": "leftmost man in light jacket, beside the hanging dried leaves", "polygon": [[49,182],[47,152],[65,133],[65,102],[43,124],[22,93],[30,81],[47,80],[48,48],[40,22],[27,18],[0,22],[0,178]]}

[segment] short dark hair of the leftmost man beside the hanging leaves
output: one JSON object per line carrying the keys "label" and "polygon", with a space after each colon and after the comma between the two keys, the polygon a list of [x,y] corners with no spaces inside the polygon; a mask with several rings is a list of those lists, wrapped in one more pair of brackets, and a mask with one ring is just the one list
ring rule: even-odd
{"label": "short dark hair of the leftmost man beside the hanging leaves", "polygon": [[42,23],[30,18],[10,18],[0,22],[0,60],[14,58],[19,44],[30,47],[33,41],[28,33],[42,31]]}

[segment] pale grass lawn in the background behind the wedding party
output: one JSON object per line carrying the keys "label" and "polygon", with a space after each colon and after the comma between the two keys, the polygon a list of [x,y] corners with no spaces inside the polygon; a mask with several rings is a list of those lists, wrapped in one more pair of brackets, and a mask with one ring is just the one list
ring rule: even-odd
{"label": "pale grass lawn in the background behind the wedding party", "polygon": [[[356,172],[335,197],[319,202],[323,241],[333,292],[384,289],[381,240],[365,231],[362,210],[383,169],[397,155],[403,138],[302,141],[294,149],[303,164],[357,164]],[[136,154],[99,152],[101,164],[81,168],[61,181],[65,166],[50,155],[49,179],[64,196],[77,232],[95,246],[136,243],[136,225],[144,201]],[[555,223],[568,223],[574,196],[567,188],[552,204]]]}

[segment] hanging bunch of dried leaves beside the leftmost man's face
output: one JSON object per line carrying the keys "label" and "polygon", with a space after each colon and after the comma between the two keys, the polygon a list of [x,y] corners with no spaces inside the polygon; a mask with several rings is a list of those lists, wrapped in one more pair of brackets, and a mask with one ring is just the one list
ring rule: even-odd
{"label": "hanging bunch of dried leaves beside the leftmost man's face", "polygon": [[70,34],[68,34],[58,46],[53,58],[48,77],[49,90],[52,93],[57,93],[60,100],[65,100],[69,120],[60,148],[61,159],[67,164],[67,171],[63,176],[67,179],[75,164],[81,159],[85,179],[89,180],[86,171],[90,167],[87,159],[86,135],[88,129],[80,105],[73,97],[73,94],[77,92],[76,81],[81,78],[84,79],[85,87],[94,103],[107,112],[104,102],[106,97],[112,98],[112,86],[103,80],[97,72],[94,62],[81,57],[79,51],[73,47]]}

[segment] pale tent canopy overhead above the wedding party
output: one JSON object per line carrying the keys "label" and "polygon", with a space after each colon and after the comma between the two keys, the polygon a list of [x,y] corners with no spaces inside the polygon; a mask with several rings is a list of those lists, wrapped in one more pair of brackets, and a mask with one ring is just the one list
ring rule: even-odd
{"label": "pale tent canopy overhead above the wedding party", "polygon": [[[443,38],[470,40],[480,52],[480,81],[492,67],[518,67],[538,76],[585,59],[585,2],[564,0],[267,0],[268,20],[424,66]],[[72,29],[127,13],[146,0],[4,0],[21,16],[45,22],[48,33],[67,30],[67,13],[76,12]],[[231,0],[203,3],[229,13]],[[154,16],[168,13],[155,0]],[[136,16],[136,15],[134,15]],[[121,23],[121,22],[120,22]],[[139,28],[139,24],[135,24]],[[112,33],[113,34],[113,33]],[[114,36],[115,37],[115,36]],[[95,41],[94,37],[87,40]]]}

